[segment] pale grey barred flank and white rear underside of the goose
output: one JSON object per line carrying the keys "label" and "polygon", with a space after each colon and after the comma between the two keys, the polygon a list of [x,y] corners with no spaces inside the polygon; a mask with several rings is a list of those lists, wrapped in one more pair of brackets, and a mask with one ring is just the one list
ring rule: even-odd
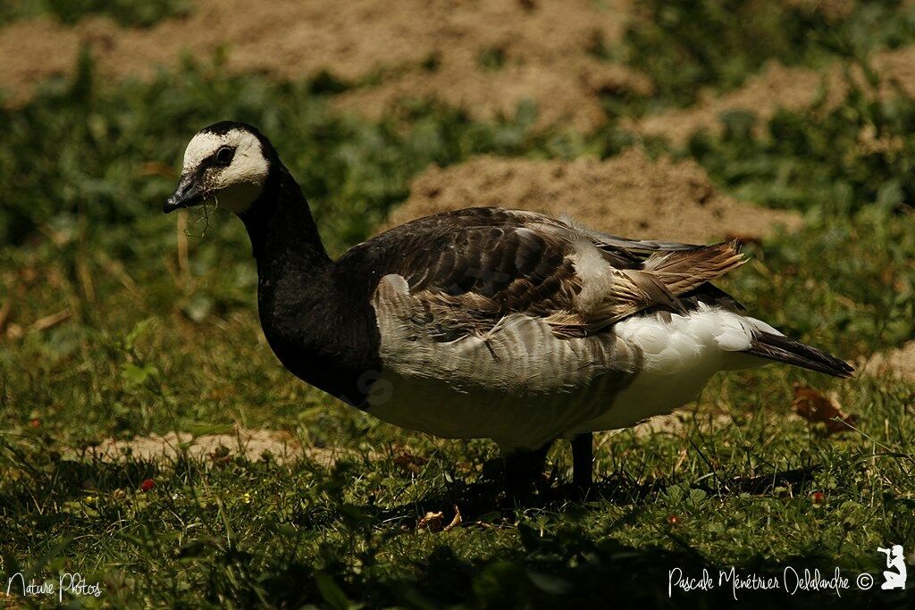
{"label": "pale grey barred flank and white rear underside of the goose", "polygon": [[774,330],[700,305],[688,316],[633,316],[572,339],[555,337],[542,319],[512,314],[483,337],[439,342],[417,321],[421,307],[403,277],[382,278],[372,305],[384,370],[370,412],[436,436],[492,438],[503,449],[672,412],[716,371],[765,364],[740,351],[754,327]]}

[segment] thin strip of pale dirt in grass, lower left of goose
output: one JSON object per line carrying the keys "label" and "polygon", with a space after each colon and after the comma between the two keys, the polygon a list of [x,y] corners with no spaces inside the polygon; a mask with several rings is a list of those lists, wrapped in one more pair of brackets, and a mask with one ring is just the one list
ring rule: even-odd
{"label": "thin strip of pale dirt in grass, lower left of goose", "polygon": [[[107,439],[86,450],[85,455],[106,462],[127,459],[167,462],[175,460],[185,450],[189,457],[195,459],[221,459],[241,455],[254,462],[264,455],[270,455],[271,459],[280,464],[307,459],[321,466],[331,466],[341,456],[350,455],[350,452],[342,449],[302,447],[290,433],[244,428],[235,428],[231,433],[197,437],[189,433],[170,432],[165,436],[150,434],[129,440]],[[70,455],[77,456],[76,452]]]}

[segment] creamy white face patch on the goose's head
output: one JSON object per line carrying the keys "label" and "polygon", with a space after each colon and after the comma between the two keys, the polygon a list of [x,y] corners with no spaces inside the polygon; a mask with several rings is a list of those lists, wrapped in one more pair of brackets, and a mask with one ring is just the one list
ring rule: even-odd
{"label": "creamy white face patch on the goose's head", "polygon": [[254,134],[232,129],[225,134],[201,132],[194,136],[184,153],[182,174],[194,174],[200,164],[215,155],[222,146],[235,149],[229,166],[208,167],[199,178],[199,187],[206,190],[204,203],[241,214],[251,208],[264,189],[270,165],[264,157],[261,143]]}

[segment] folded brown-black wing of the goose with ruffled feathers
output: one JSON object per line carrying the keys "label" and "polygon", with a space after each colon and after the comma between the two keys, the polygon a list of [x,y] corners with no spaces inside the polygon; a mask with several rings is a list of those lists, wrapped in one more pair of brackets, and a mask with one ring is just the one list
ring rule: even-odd
{"label": "folded brown-black wing of the goose with ruffled feathers", "polygon": [[486,333],[512,313],[566,337],[645,309],[684,313],[681,297],[716,290],[707,283],[744,262],[736,242],[626,240],[515,210],[459,210],[389,233],[401,251],[384,273],[404,278],[416,314],[443,340]]}

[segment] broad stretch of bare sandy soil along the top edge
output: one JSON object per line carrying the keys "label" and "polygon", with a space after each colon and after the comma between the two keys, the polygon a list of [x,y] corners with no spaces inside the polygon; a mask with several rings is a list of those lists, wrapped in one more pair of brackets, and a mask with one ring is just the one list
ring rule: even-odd
{"label": "broad stretch of bare sandy soil along the top edge", "polygon": [[240,72],[381,75],[340,101],[370,114],[402,96],[431,96],[489,117],[529,98],[542,123],[589,128],[603,120],[597,91],[647,91],[647,80],[591,50],[619,39],[629,9],[630,0],[197,0],[190,16],[143,30],[99,17],[75,27],[39,18],[0,29],[0,83],[13,102],[27,100],[40,80],[73,69],[82,43],[108,76],[146,76],[182,53],[209,59],[225,48]]}

